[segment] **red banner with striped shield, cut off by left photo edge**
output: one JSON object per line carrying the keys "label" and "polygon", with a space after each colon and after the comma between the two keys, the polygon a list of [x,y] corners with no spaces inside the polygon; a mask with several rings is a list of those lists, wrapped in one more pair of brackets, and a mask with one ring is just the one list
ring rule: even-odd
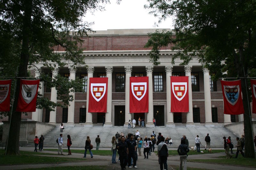
{"label": "red banner with striped shield, cut off by left photo edge", "polygon": [[0,80],[0,111],[10,111],[12,80]]}

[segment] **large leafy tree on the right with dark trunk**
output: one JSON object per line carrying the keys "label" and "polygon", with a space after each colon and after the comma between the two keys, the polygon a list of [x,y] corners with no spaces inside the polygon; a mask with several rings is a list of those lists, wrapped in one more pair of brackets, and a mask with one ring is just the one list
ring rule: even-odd
{"label": "large leafy tree on the right with dark trunk", "polygon": [[[159,64],[159,50],[171,44],[177,57],[187,65],[198,56],[203,67],[215,80],[237,77],[242,81],[244,104],[245,157],[255,158],[253,147],[249,86],[246,77],[255,76],[256,64],[256,1],[255,0],[148,0],[145,8],[159,17],[159,22],[173,16],[173,32],[149,34],[146,47],[151,61]],[[223,75],[227,72],[227,75]]]}

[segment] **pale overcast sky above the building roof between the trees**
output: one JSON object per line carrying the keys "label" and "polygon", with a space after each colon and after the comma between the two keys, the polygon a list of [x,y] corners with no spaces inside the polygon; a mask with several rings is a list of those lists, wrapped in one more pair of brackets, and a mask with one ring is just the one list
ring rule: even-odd
{"label": "pale overcast sky above the building roof between the trees", "polygon": [[85,21],[94,22],[91,26],[93,30],[172,28],[171,19],[163,21],[158,27],[154,25],[158,19],[144,9],[147,0],[122,0],[119,5],[116,0],[110,0],[110,3],[105,6],[105,11],[86,14]]}

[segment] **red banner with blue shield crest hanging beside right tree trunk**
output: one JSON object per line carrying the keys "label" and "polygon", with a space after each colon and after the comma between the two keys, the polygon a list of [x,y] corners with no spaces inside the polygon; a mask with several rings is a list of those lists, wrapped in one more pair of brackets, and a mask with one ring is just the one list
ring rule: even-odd
{"label": "red banner with blue shield crest hanging beside right tree trunk", "polygon": [[240,115],[244,113],[244,105],[241,93],[241,80],[223,81],[221,80],[224,114]]}

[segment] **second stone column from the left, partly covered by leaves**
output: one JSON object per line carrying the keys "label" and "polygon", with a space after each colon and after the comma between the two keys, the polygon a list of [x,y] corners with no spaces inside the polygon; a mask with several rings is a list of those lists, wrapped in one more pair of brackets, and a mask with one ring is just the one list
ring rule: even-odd
{"label": "second stone column from the left, partly covered by leaves", "polygon": [[[52,80],[55,79],[55,77],[58,75],[59,68],[56,66],[54,70],[52,70]],[[55,87],[52,87],[51,89],[51,101],[54,103],[57,103],[57,89]],[[50,111],[50,124],[56,124],[56,107],[54,108],[54,111]]]}

